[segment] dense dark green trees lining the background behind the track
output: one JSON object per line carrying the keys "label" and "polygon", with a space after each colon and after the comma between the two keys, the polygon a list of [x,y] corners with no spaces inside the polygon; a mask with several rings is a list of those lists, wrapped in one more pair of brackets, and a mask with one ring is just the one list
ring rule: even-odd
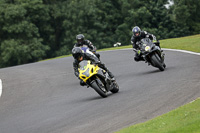
{"label": "dense dark green trees lining the background behind the track", "polygon": [[77,34],[98,49],[129,45],[139,26],[157,39],[200,33],[200,0],[0,0],[0,67],[71,53]]}

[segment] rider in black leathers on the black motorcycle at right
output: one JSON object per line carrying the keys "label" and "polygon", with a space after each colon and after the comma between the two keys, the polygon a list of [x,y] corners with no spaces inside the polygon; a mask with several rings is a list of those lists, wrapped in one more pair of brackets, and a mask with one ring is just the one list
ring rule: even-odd
{"label": "rider in black leathers on the black motorcycle at right", "polygon": [[[160,48],[160,42],[156,40],[156,37],[153,34],[150,34],[146,31],[141,31],[141,29],[138,26],[133,27],[132,29],[133,36],[131,37],[131,43],[133,45],[133,48],[137,50],[135,53],[134,60],[135,61],[144,61],[144,59],[141,57],[139,46],[137,44],[138,41],[140,41],[143,38],[149,38],[153,41],[153,43]],[[161,50],[163,52],[163,50]],[[163,54],[163,53],[162,53]]]}

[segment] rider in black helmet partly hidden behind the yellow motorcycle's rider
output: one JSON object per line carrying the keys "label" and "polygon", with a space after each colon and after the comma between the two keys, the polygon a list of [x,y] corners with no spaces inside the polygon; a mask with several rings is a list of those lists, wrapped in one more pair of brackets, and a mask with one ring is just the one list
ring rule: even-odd
{"label": "rider in black helmet partly hidden behind the yellow motorcycle's rider", "polygon": [[[93,51],[95,49],[94,45],[92,44],[91,41],[85,40],[85,36],[83,34],[78,34],[76,36],[77,43],[74,44],[74,47],[81,47],[83,45],[86,45],[89,48],[89,51]],[[99,53],[94,53],[97,58],[100,59],[100,54]]]}

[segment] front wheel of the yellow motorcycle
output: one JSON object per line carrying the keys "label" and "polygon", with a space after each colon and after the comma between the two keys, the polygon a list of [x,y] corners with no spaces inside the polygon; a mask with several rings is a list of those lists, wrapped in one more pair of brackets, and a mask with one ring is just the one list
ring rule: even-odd
{"label": "front wheel of the yellow motorcycle", "polygon": [[96,79],[91,83],[91,87],[103,98],[107,97],[107,90],[101,80]]}

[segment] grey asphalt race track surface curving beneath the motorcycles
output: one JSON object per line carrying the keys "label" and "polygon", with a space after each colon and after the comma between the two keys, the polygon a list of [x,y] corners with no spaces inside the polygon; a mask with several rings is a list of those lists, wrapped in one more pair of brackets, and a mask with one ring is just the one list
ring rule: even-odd
{"label": "grey asphalt race track surface curving beneath the motorcycles", "polygon": [[111,133],[200,97],[200,56],[164,52],[163,72],[131,49],[100,52],[120,86],[107,98],[79,85],[72,57],[0,69],[0,133]]}

